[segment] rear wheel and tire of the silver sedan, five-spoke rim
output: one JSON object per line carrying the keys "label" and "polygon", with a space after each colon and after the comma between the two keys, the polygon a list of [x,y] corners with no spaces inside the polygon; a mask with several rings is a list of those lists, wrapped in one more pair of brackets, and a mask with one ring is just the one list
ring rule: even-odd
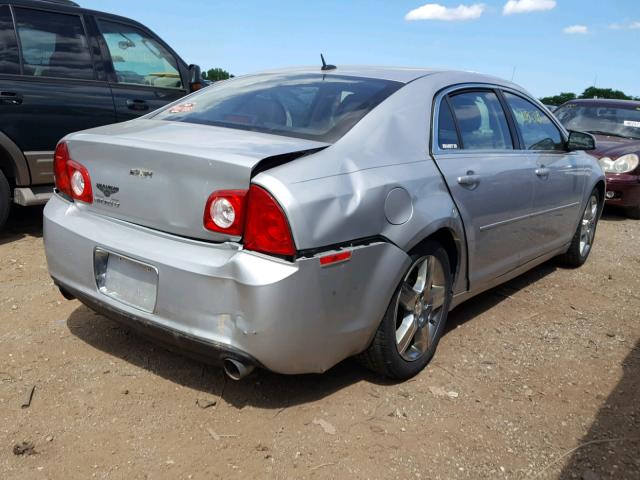
{"label": "rear wheel and tire of the silver sedan, five-spoke rim", "polygon": [[[424,277],[430,280],[422,281]],[[420,288],[422,284],[424,287]],[[417,375],[433,358],[442,337],[452,288],[447,252],[436,242],[423,244],[411,255],[411,265],[396,288],[371,345],[356,357],[358,361],[394,380]],[[433,308],[434,304],[438,307]]]}

